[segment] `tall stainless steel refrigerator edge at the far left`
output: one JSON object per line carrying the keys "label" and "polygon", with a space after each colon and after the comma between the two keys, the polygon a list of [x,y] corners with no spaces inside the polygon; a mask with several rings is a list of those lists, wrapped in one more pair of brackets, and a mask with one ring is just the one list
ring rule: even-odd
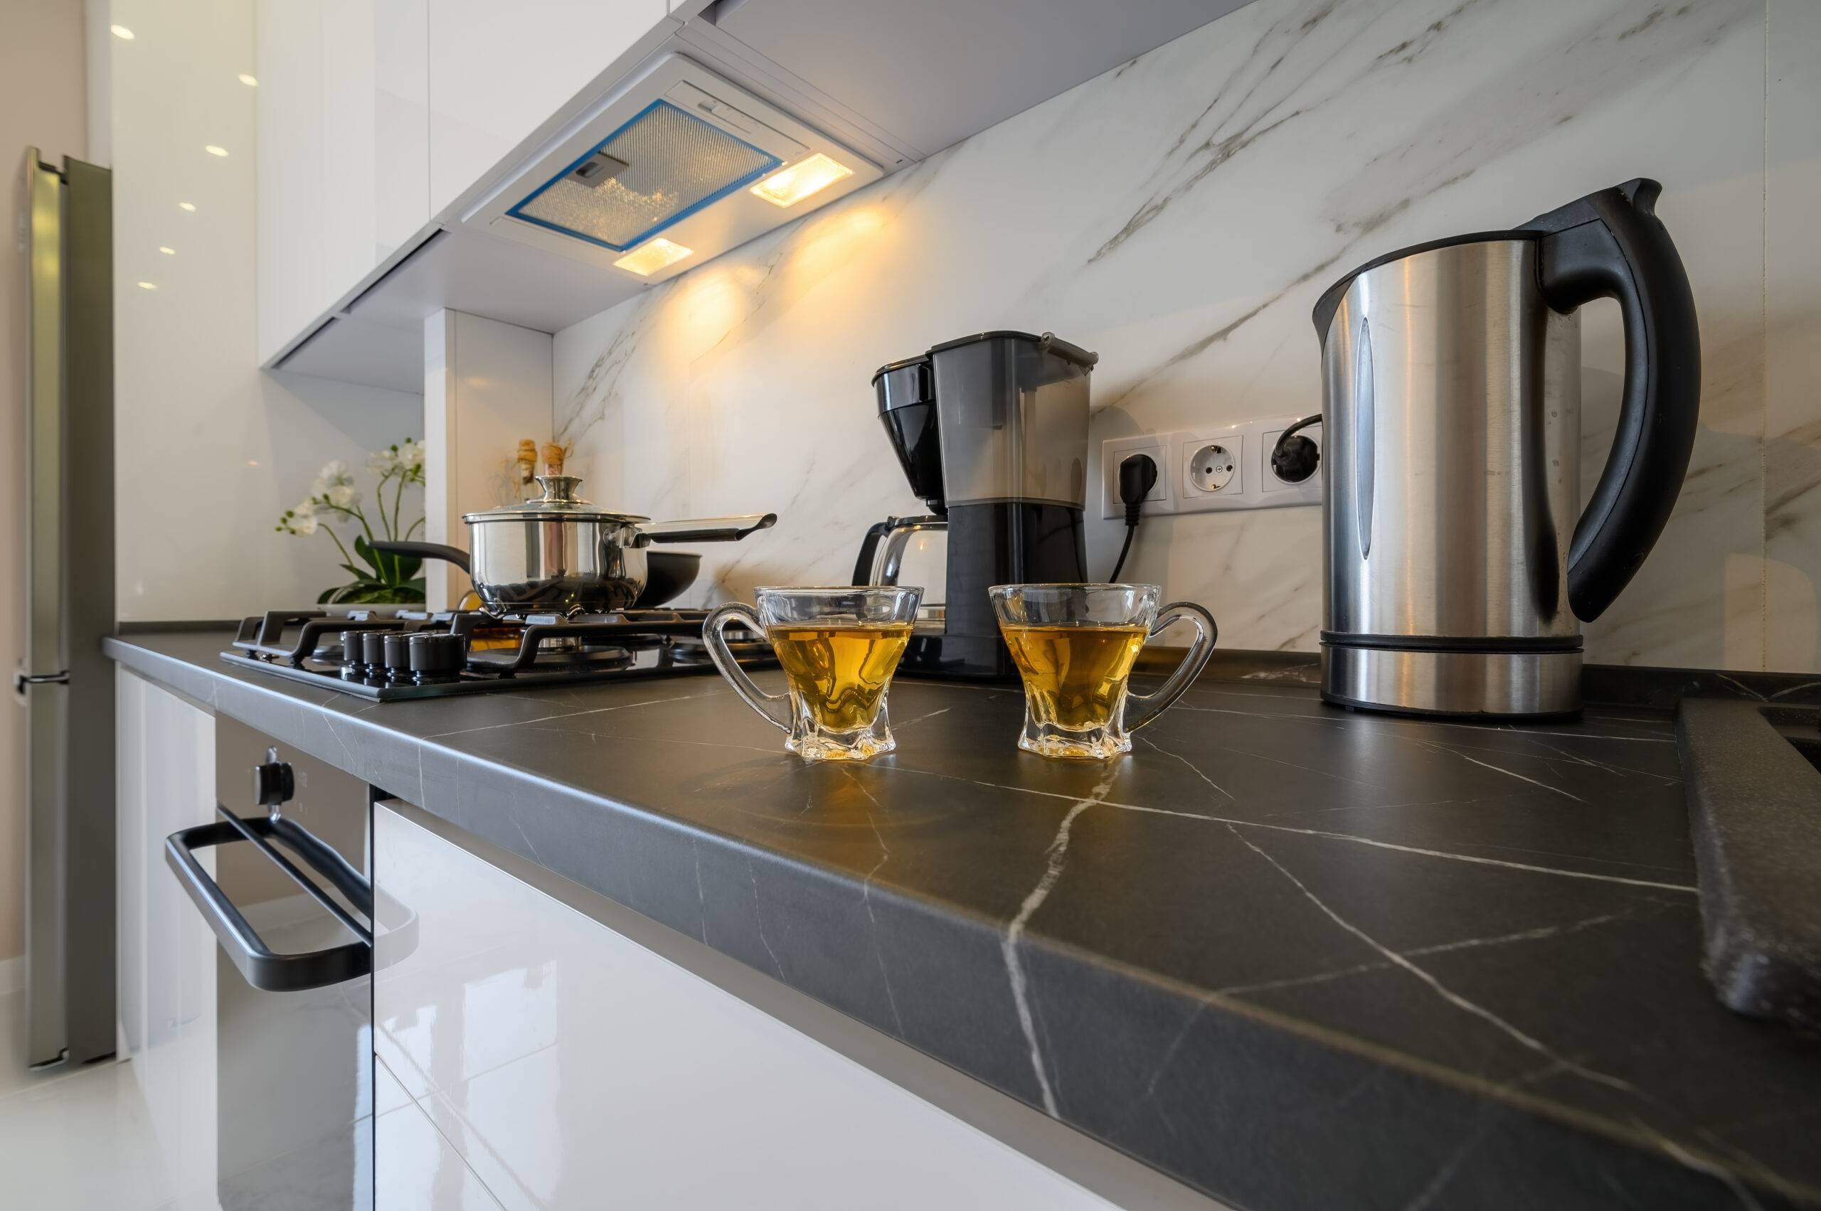
{"label": "tall stainless steel refrigerator edge at the far left", "polygon": [[[27,149],[27,1062],[115,1051],[113,186]],[[80,550],[75,544],[80,535]],[[80,759],[71,759],[80,754]]]}

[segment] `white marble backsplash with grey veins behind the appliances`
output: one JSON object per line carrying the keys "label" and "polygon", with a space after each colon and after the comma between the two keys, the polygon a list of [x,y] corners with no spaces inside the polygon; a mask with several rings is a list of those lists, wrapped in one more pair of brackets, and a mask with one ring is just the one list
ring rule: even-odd
{"label": "white marble backsplash with grey veins behind the appliances", "polygon": [[[1703,426],[1588,654],[1821,668],[1817,13],[1258,0],[557,333],[557,435],[597,501],[779,514],[703,548],[694,603],[839,583],[869,523],[921,512],[876,419],[881,362],[987,328],[1096,350],[1096,463],[1104,437],[1317,412],[1309,310],[1346,270],[1657,177],[1701,313]],[[1586,310],[1584,350],[1592,488],[1615,306]],[[1091,508],[1093,568],[1118,537]],[[1125,579],[1206,603],[1224,645],[1309,650],[1320,510],[1147,519]]]}

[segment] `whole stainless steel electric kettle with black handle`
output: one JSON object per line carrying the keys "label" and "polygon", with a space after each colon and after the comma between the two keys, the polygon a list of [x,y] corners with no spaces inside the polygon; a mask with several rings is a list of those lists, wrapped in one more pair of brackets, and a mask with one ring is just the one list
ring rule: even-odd
{"label": "whole stainless steel electric kettle with black handle", "polygon": [[[1581,623],[1670,517],[1701,348],[1655,180],[1406,248],[1315,308],[1324,373],[1322,697],[1442,716],[1581,708]],[[1582,512],[1581,319],[1624,319],[1624,395]]]}

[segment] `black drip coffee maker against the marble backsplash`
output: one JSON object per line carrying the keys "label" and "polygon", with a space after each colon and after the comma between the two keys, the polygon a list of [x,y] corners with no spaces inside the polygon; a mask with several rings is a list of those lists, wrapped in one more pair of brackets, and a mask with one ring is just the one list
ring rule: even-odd
{"label": "black drip coffee maker against the marble backsplash", "polygon": [[1087,579],[1087,375],[1096,355],[1027,331],[983,331],[881,366],[880,421],[931,514],[867,530],[856,585],[892,585],[909,535],[947,532],[947,585],[903,668],[1016,676],[987,588]]}

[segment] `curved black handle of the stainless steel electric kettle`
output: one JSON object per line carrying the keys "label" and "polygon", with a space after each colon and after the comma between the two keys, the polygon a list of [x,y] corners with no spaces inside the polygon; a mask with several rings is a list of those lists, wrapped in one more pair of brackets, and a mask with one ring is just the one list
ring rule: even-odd
{"label": "curved black handle of the stainless steel electric kettle", "polygon": [[1694,453],[1701,330],[1688,273],[1657,219],[1663,186],[1637,178],[1524,224],[1544,231],[1542,297],[1557,311],[1617,299],[1624,317],[1619,432],[1568,548],[1568,605],[1592,623],[1657,543]]}

